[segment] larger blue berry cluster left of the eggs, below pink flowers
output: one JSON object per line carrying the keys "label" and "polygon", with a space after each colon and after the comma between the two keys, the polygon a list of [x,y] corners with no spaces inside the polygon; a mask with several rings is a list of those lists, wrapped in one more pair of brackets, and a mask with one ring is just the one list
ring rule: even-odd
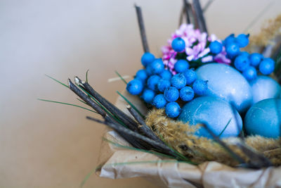
{"label": "larger blue berry cluster left of the eggs, below pink flowers", "polygon": [[[185,48],[181,38],[174,39],[172,46],[177,51]],[[140,95],[147,104],[165,108],[169,118],[176,118],[181,113],[179,104],[191,101],[195,96],[202,96],[207,91],[207,82],[197,79],[188,61],[178,60],[175,63],[176,75],[165,69],[162,59],[148,52],[143,54],[141,63],[145,69],[138,70],[126,90],[130,94]]]}

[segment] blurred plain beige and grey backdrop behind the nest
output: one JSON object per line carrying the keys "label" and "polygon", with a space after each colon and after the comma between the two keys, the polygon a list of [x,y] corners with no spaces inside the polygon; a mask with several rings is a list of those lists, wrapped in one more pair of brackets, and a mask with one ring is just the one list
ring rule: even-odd
{"label": "blurred plain beige and grey backdrop behind the nest", "polygon": [[[150,49],[160,54],[178,26],[182,1],[0,0],[0,187],[79,187],[98,161],[103,125],[60,84],[85,76],[100,94],[114,102],[122,82],[141,68],[141,39],[133,4],[143,8]],[[202,1],[206,4],[207,0]],[[210,33],[239,34],[263,8],[271,6],[252,30],[280,13],[281,1],[216,0],[205,13]],[[85,187],[154,187],[150,182],[106,180],[92,175]]]}

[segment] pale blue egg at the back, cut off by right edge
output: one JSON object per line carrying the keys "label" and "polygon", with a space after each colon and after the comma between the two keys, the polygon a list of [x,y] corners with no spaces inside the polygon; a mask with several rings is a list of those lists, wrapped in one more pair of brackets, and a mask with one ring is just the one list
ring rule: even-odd
{"label": "pale blue egg at the back, cut off by right edge", "polygon": [[268,76],[258,76],[250,82],[253,94],[253,104],[270,98],[279,98],[281,94],[280,85]]}

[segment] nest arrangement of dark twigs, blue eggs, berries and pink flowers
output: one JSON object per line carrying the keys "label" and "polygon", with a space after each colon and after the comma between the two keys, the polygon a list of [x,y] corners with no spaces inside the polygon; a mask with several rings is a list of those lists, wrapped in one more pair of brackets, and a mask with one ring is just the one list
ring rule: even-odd
{"label": "nest arrangement of dark twigs, blue eggs, berries and pink flowers", "polygon": [[[171,34],[157,57],[148,48],[141,8],[135,7],[143,68],[129,82],[118,74],[126,83],[126,92],[118,92],[126,108],[107,101],[87,80],[60,82],[103,118],[87,116],[89,120],[112,128],[129,146],[105,141],[178,163],[280,166],[280,44],[253,51],[260,44],[251,44],[249,34],[218,39],[207,32],[200,1],[184,1],[181,22],[185,15],[186,23]],[[137,101],[145,106],[144,113],[134,105]]]}

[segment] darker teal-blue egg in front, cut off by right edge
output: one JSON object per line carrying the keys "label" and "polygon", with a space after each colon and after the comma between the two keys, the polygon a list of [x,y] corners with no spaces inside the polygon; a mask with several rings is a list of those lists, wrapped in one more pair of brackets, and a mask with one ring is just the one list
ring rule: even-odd
{"label": "darker teal-blue egg in front, cut off by right edge", "polygon": [[277,138],[281,136],[281,99],[264,99],[251,106],[244,126],[247,134]]}

